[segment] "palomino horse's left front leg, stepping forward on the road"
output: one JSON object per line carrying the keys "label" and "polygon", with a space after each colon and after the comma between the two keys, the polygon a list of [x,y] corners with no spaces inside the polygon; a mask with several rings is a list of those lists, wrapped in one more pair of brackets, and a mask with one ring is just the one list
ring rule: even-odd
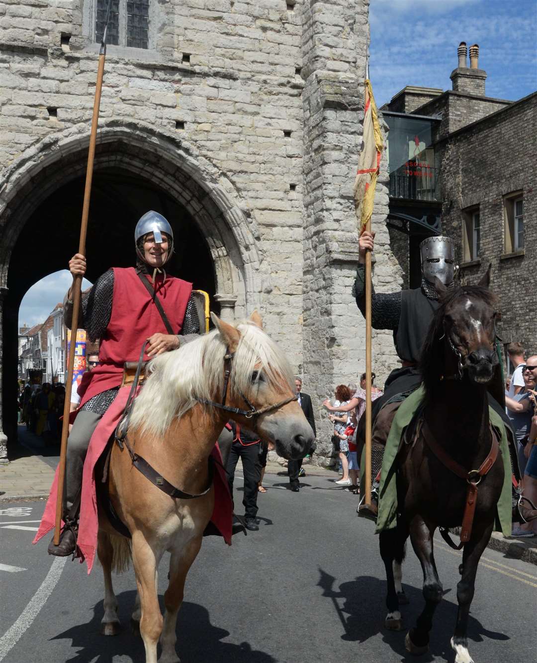
{"label": "palomino horse's left front leg, stepping forward on the road", "polygon": [[162,632],[162,614],[156,591],[156,567],[161,553],[155,554],[142,532],[133,533],[133,564],[140,595],[140,634],[146,663],[156,663],[156,644]]}

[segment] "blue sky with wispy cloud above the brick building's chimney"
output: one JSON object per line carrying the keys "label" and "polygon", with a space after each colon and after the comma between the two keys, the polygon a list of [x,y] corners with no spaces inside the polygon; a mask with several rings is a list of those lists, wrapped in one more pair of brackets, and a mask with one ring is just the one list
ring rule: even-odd
{"label": "blue sky with wispy cloud above the brick building's chimney", "polygon": [[379,106],[407,85],[451,90],[461,41],[479,44],[487,96],[537,90],[537,0],[371,0],[369,21]]}

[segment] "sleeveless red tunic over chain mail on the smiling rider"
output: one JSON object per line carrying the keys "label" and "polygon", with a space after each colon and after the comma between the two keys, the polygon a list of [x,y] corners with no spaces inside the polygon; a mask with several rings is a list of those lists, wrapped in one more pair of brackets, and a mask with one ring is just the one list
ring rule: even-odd
{"label": "sleeveless red tunic over chain mail on the smiling rider", "polygon": [[[123,363],[138,361],[143,343],[154,333],[167,334],[156,305],[133,267],[113,268],[114,290],[110,322],[99,345],[99,366],[85,373],[78,388],[80,405],[112,387],[119,387]],[[144,276],[147,278],[147,276]],[[156,296],[175,333],[182,329],[192,283],[162,275],[156,278]],[[150,357],[145,355],[145,361]]]}

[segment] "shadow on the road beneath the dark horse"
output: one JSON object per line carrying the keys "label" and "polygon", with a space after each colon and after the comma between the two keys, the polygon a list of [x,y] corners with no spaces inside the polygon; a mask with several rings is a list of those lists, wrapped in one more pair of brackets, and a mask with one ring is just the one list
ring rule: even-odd
{"label": "shadow on the road beneath the dark horse", "polygon": [[[390,645],[402,660],[416,661],[416,657],[408,654],[404,648],[404,636],[416,623],[424,607],[422,589],[404,585],[404,591],[410,605],[400,608],[403,618],[402,631],[388,631],[384,628],[384,619],[387,609],[385,607],[386,581],[376,577],[362,575],[353,581],[341,583],[335,589],[335,577],[319,569],[320,579],[318,585],[323,590],[323,596],[332,600],[333,607],[343,627],[342,640],[351,642],[365,642],[369,638],[381,633],[383,640]],[[444,591],[444,595],[449,589]],[[457,619],[457,599],[453,601],[444,599],[434,615],[433,628],[430,634],[430,653],[420,658],[422,663],[436,660],[436,657],[453,659],[453,650],[449,644],[455,621]],[[491,640],[508,640],[509,636],[497,631],[488,631],[481,623],[470,615],[468,621],[468,638],[474,642],[482,642],[484,638]],[[470,646],[471,648],[471,646]]]}

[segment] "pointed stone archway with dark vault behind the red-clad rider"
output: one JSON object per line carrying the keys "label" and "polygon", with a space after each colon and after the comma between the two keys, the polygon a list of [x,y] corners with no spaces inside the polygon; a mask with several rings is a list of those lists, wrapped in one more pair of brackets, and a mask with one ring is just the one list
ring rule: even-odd
{"label": "pointed stone archway with dark vault behind the red-clad rider", "polygon": [[[94,281],[111,266],[134,264],[135,223],[152,209],[164,214],[174,229],[176,253],[170,271],[206,290],[215,312],[221,305],[228,317],[233,316],[237,304],[242,314],[245,281],[251,281],[255,270],[251,264],[245,269],[242,253],[255,252],[237,242],[235,235],[244,236],[244,230],[229,223],[237,211],[229,202],[226,207],[225,200],[215,202],[207,182],[196,179],[192,158],[181,168],[177,149],[168,150],[173,157],[168,160],[163,154],[169,145],[144,143],[139,135],[137,139],[138,145],[117,132],[103,132],[97,144],[86,243],[88,279]],[[13,172],[16,192],[3,213],[5,242],[0,249],[0,284],[7,285],[2,320],[3,431],[10,444],[17,430],[19,306],[32,284],[65,269],[77,250],[86,158],[87,137],[79,136],[64,149],[49,148],[31,177],[21,175],[17,180],[18,173]]]}

